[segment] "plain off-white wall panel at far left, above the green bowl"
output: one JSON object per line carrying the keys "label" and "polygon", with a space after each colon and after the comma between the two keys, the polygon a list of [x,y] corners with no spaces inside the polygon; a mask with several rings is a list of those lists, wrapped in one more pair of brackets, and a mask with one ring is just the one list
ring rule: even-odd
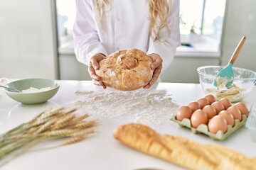
{"label": "plain off-white wall panel at far left, above the green bowl", "polygon": [[58,79],[53,0],[0,0],[0,78]]}

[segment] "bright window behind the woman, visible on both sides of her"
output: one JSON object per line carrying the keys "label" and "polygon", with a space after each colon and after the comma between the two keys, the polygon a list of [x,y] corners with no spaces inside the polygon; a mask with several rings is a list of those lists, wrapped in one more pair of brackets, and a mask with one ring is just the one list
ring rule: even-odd
{"label": "bright window behind the woman, visible on both sides of her", "polygon": [[[219,55],[225,0],[180,0],[180,3],[181,47],[178,47],[178,52]],[[56,6],[59,50],[73,52],[75,0],[56,0]]]}

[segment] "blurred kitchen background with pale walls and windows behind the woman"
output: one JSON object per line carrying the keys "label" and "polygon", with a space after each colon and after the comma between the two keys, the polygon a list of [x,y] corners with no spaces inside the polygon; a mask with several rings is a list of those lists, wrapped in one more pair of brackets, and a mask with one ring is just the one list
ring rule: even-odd
{"label": "blurred kitchen background with pale walls and windows behind the woman", "polygon": [[[255,0],[180,0],[181,47],[161,74],[198,83],[196,69],[225,65],[243,35],[235,67],[256,71]],[[0,0],[0,78],[90,80],[73,52],[75,0]]]}

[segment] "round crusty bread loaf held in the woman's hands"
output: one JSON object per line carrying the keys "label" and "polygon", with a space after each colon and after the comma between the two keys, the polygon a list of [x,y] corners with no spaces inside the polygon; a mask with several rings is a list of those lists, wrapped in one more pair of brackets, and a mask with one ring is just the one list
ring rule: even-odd
{"label": "round crusty bread loaf held in the woman's hands", "polygon": [[140,89],[152,79],[153,60],[141,50],[119,50],[99,62],[95,73],[105,86],[121,91]]}

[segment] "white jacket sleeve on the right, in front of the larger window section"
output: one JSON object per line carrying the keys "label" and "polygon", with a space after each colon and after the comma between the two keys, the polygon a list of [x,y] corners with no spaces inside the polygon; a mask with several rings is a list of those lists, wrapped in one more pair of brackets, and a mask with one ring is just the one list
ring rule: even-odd
{"label": "white jacket sleeve on the right, in front of the larger window section", "polygon": [[171,64],[176,53],[176,47],[181,44],[179,32],[179,1],[174,0],[172,3],[169,2],[169,8],[171,10],[167,21],[171,34],[169,34],[166,28],[161,28],[159,30],[160,40],[154,40],[150,37],[149,50],[146,52],[147,55],[152,53],[160,55],[163,59],[163,71]]}

